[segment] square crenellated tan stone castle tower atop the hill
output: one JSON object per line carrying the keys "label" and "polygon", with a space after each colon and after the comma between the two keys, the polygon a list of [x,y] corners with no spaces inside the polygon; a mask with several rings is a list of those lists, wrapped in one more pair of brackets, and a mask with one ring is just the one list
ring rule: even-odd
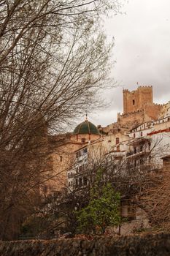
{"label": "square crenellated tan stone castle tower atop the hill", "polygon": [[152,86],[139,86],[135,91],[123,90],[123,114],[144,109],[153,103]]}

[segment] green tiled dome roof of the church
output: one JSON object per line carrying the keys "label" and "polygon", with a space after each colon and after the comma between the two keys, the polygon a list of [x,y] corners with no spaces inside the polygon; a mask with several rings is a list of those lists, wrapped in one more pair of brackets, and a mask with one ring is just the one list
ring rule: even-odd
{"label": "green tiled dome roof of the church", "polygon": [[100,135],[97,127],[92,124],[90,121],[85,120],[81,124],[77,125],[73,132],[74,135],[78,134],[93,134],[93,135]]}

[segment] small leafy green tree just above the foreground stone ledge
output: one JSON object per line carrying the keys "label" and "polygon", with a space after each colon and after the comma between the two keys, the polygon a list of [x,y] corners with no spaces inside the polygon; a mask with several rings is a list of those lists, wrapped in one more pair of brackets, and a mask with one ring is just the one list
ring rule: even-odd
{"label": "small leafy green tree just above the foreground stone ledge", "polygon": [[107,183],[91,189],[88,206],[77,211],[78,230],[83,233],[104,233],[109,225],[120,225],[120,193]]}

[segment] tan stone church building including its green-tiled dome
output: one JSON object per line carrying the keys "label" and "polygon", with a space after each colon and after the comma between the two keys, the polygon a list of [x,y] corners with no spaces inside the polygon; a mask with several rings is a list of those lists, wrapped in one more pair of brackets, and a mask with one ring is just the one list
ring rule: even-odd
{"label": "tan stone church building including its green-tiled dome", "polygon": [[67,171],[75,163],[76,152],[80,148],[100,140],[98,128],[86,118],[78,124],[68,136],[51,136],[48,139],[50,148],[50,178],[46,183],[47,195],[62,192],[68,188]]}

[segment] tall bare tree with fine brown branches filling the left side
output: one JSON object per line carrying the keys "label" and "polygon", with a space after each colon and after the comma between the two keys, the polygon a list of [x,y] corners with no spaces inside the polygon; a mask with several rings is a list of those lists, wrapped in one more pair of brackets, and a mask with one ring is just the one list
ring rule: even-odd
{"label": "tall bare tree with fine brown branches filling the left side", "polygon": [[38,200],[31,193],[49,178],[47,129],[61,130],[108,86],[112,45],[99,16],[117,7],[107,0],[0,1],[2,239],[15,238]]}

